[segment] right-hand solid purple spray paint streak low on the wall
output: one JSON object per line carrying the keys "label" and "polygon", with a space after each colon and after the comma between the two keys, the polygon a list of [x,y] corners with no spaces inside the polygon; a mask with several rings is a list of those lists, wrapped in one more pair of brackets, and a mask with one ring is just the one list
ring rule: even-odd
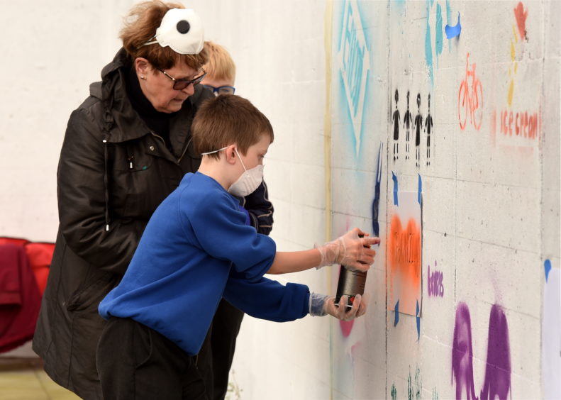
{"label": "right-hand solid purple spray paint streak low on the wall", "polygon": [[489,316],[487,339],[487,368],[480,400],[506,400],[511,389],[511,351],[509,325],[501,306],[494,304]]}

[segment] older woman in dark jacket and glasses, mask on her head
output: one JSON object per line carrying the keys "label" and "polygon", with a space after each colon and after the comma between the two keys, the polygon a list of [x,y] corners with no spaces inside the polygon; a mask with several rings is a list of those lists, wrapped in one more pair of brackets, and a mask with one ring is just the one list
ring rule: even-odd
{"label": "older woman in dark jacket and glasses, mask on her head", "polygon": [[199,84],[208,57],[194,11],[148,1],[126,21],[123,48],[68,121],[57,172],[60,227],[33,339],[49,376],[84,399],[102,397],[99,301],[123,277],[152,212],[199,167],[191,121],[213,98]]}

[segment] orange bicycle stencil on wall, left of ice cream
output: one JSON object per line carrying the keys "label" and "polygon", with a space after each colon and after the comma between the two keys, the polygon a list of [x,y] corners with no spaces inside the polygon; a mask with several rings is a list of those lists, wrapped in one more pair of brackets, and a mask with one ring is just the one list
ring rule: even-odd
{"label": "orange bicycle stencil on wall, left of ice cream", "polygon": [[457,115],[462,130],[465,129],[468,114],[470,124],[479,130],[483,120],[483,87],[481,81],[475,76],[475,63],[472,64],[472,69],[469,69],[469,60],[470,53],[468,52],[465,59],[465,78],[457,93]]}

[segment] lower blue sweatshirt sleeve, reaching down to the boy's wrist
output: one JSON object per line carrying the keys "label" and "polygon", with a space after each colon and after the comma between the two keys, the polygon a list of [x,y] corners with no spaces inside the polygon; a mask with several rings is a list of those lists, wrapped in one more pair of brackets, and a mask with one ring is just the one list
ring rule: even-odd
{"label": "lower blue sweatshirt sleeve, reaching down to the boy's wrist", "polygon": [[309,288],[304,284],[289,283],[261,277],[250,282],[243,274],[231,272],[223,297],[238,309],[255,318],[275,322],[303,318],[309,310]]}

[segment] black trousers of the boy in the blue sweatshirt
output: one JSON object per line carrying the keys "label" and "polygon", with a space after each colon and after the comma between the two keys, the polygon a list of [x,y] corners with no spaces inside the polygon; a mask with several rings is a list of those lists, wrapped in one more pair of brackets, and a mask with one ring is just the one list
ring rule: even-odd
{"label": "black trousers of the boy in the blue sweatshirt", "polygon": [[96,362],[105,400],[208,400],[196,357],[130,318],[109,320]]}

